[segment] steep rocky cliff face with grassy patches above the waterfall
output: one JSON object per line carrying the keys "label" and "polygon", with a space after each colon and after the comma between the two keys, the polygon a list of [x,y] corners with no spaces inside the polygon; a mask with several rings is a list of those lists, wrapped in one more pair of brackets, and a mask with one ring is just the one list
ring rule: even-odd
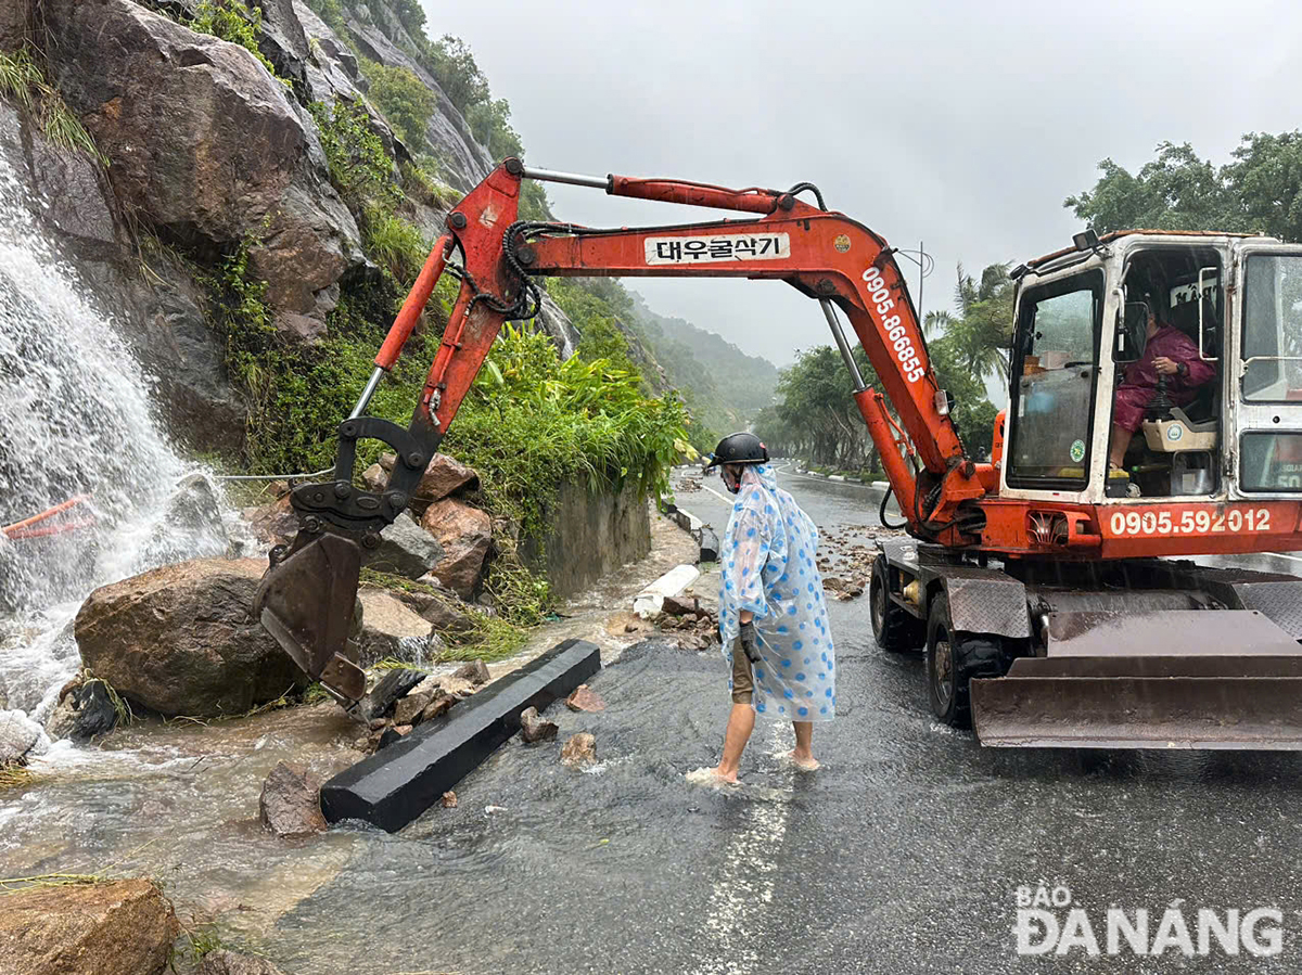
{"label": "steep rocky cliff face with grassy patches above the waterfall", "polygon": [[[0,158],[197,449],[245,448],[263,363],[243,332],[293,350],[383,331],[493,165],[393,7],[316,5],[331,23],[294,0],[0,4],[0,57],[30,78],[3,92]],[[417,129],[375,96],[408,82]],[[555,302],[536,324],[573,354]]]}

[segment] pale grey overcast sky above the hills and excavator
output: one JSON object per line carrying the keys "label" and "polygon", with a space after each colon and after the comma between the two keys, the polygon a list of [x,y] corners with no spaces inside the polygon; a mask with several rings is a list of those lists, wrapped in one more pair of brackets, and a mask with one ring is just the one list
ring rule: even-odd
{"label": "pale grey overcast sky above the hills and excavator", "polygon": [[[892,245],[926,242],[924,309],[949,306],[960,260],[975,273],[1070,243],[1062,199],[1105,156],[1133,172],[1170,139],[1224,163],[1242,133],[1302,125],[1302,4],[423,3],[430,34],[464,38],[510,102],[531,164],[809,180]],[[598,227],[725,216],[548,194]],[[777,364],[829,341],[779,282],[628,284]]]}

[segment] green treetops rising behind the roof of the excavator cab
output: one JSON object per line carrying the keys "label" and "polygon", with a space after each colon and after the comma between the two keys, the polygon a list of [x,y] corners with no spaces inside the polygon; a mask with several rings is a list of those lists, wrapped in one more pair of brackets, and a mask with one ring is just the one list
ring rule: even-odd
{"label": "green treetops rising behind the roof of the excavator cab", "polygon": [[1138,173],[1111,159],[1094,189],[1062,206],[1099,233],[1129,228],[1268,233],[1302,241],[1302,130],[1247,133],[1221,167],[1163,142]]}

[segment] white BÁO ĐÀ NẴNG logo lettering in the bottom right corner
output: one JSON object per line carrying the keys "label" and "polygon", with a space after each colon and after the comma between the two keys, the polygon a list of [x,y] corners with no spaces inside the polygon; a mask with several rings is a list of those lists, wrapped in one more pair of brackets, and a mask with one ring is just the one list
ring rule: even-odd
{"label": "white B\u00c1O \u0110\u00c0 N\u1eb4NG logo lettering in the bottom right corner", "polygon": [[1277,955],[1284,915],[1275,907],[1086,909],[1059,884],[1019,886],[1013,937],[1018,954],[1039,955]]}

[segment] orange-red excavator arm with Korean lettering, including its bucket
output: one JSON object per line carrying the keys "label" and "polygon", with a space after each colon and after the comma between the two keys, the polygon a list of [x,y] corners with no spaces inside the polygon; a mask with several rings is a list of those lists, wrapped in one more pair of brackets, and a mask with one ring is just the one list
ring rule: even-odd
{"label": "orange-red excavator arm with Korean lettering, including its bucket", "polygon": [[[635,229],[521,221],[525,178],[749,216]],[[806,191],[818,206],[798,199]],[[456,255],[460,264],[453,263]],[[411,423],[404,430],[365,415],[444,273],[456,275],[461,289]],[[785,193],[730,190],[680,180],[553,173],[508,159],[449,213],[448,233],[430,251],[357,407],[339,427],[333,480],[294,488],[298,535],[290,545],[272,549],[256,595],[267,630],[345,702],[355,702],[365,690],[365,674],[350,651],[363,555],[379,545],[380,531],[406,508],[503,323],[538,311],[534,277],[546,275],[781,280],[815,298],[854,380],[854,400],[910,534],[948,545],[978,540],[984,515],[973,502],[992,491],[997,478],[990,465],[975,465],[963,454],[904,275],[880,236],[824,210],[810,184]],[[867,353],[884,394],[859,375],[837,310]],[[353,483],[362,439],[381,440],[397,456],[384,491]]]}

